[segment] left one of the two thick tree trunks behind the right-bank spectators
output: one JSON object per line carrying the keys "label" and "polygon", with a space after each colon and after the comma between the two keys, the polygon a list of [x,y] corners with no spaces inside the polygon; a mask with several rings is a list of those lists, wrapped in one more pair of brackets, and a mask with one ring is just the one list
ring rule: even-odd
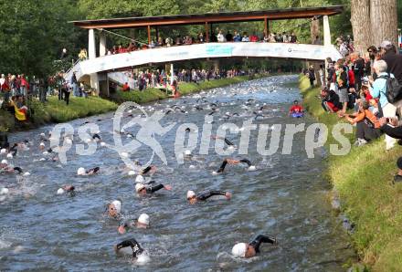
{"label": "left one of the two thick tree trunks behind the right-bank spectators", "polygon": [[372,45],[370,0],[351,0],[351,22],[354,32],[354,48],[364,53]]}

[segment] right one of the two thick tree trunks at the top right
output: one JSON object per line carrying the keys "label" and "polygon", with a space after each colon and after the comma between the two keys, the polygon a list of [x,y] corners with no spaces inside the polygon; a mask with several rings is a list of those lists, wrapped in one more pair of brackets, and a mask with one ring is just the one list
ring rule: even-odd
{"label": "right one of the two thick tree trunks at the top right", "polygon": [[384,40],[397,45],[397,0],[371,0],[370,19],[375,46]]}

